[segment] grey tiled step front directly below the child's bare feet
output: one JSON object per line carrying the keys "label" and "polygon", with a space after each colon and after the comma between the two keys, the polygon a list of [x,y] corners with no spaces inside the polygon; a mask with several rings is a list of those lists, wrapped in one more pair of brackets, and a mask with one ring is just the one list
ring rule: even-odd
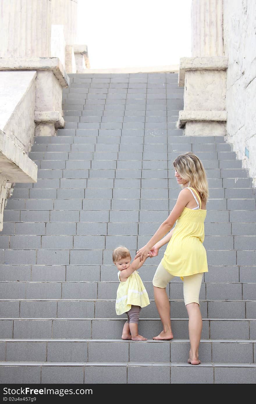
{"label": "grey tiled step front directly below the child's bare feet", "polygon": [[[201,362],[250,363],[255,362],[253,349],[256,340],[202,340]],[[159,362],[186,363],[189,352],[188,340],[145,341],[144,344],[122,340],[0,340],[4,362]],[[4,349],[5,348],[5,349]],[[2,364],[3,365],[3,364]]]}

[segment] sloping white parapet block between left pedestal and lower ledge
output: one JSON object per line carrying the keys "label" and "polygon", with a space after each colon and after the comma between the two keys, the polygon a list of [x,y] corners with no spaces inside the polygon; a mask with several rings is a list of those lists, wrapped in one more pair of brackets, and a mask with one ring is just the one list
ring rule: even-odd
{"label": "sloping white parapet block between left pedestal and lower ledge", "polygon": [[36,71],[0,72],[0,129],[26,153],[34,137]]}

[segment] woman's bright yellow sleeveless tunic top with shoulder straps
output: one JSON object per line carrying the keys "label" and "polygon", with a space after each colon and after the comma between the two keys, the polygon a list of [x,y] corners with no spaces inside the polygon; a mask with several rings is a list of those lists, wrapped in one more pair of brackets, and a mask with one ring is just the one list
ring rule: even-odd
{"label": "woman's bright yellow sleeveless tunic top with shoulder straps", "polygon": [[[197,194],[194,188],[191,189]],[[203,246],[206,210],[201,209],[201,198],[199,200],[198,210],[185,207],[177,219],[161,261],[171,275],[180,276],[182,280],[183,276],[208,272],[206,251]]]}

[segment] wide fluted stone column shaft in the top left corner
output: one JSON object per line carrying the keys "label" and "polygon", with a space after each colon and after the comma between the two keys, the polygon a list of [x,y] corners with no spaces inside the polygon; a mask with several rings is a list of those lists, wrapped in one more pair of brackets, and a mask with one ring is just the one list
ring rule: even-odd
{"label": "wide fluted stone column shaft in the top left corner", "polygon": [[0,57],[51,55],[51,0],[2,0]]}

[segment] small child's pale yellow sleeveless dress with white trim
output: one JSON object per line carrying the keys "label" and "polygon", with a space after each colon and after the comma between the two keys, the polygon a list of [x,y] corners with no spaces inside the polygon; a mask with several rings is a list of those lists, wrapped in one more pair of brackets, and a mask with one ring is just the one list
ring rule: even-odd
{"label": "small child's pale yellow sleeveless dress with white trim", "polygon": [[131,309],[131,305],[146,307],[150,304],[148,293],[137,271],[134,271],[125,282],[120,280],[120,271],[118,271],[120,284],[116,292],[116,314],[126,313]]}

